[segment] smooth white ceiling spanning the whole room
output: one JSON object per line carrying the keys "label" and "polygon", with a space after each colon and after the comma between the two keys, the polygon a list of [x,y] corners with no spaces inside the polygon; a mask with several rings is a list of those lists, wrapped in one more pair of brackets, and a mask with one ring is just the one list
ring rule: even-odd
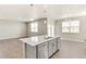
{"label": "smooth white ceiling spanning the whole room", "polygon": [[42,4],[2,4],[0,5],[0,17],[4,18],[39,18],[46,15],[50,18],[61,18],[69,16],[86,15],[86,4],[48,4],[44,8]]}

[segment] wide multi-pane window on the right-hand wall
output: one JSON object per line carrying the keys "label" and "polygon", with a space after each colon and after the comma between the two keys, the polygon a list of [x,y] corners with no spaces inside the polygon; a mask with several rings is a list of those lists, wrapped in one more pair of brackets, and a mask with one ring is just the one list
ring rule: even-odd
{"label": "wide multi-pane window on the right-hand wall", "polygon": [[79,21],[62,22],[62,33],[79,33]]}

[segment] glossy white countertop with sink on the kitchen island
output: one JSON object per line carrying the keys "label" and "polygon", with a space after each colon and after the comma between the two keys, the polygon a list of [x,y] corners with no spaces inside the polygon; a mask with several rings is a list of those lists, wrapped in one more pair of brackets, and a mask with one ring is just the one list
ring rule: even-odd
{"label": "glossy white countertop with sink on the kitchen island", "polygon": [[40,44],[42,42],[46,42],[46,41],[49,41],[51,39],[54,39],[57,37],[48,37],[46,38],[45,36],[35,36],[35,37],[29,37],[29,38],[22,38],[20,39],[22,42],[25,42],[27,44],[30,44],[30,46],[37,46],[37,44]]}

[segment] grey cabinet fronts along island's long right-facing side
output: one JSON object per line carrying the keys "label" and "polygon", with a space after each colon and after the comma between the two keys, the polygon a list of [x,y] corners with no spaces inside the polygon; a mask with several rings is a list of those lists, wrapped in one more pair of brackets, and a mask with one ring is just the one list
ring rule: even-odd
{"label": "grey cabinet fronts along island's long right-facing side", "polygon": [[44,42],[38,46],[38,57],[48,59],[58,50],[58,39]]}

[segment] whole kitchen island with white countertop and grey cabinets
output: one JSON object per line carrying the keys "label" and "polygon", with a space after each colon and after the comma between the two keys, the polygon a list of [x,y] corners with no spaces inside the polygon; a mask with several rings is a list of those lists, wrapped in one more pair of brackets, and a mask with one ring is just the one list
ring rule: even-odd
{"label": "whole kitchen island with white countertop and grey cabinets", "polygon": [[60,37],[35,36],[20,39],[25,59],[49,59],[59,48]]}

